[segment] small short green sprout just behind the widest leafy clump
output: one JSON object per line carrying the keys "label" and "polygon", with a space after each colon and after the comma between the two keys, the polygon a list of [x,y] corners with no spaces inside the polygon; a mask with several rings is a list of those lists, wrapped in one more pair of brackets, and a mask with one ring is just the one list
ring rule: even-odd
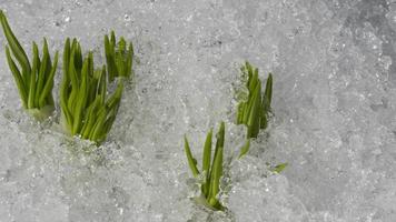
{"label": "small short green sprout just behind the widest leafy clump", "polygon": [[133,58],[133,44],[131,42],[127,44],[123,37],[116,42],[116,34],[111,31],[110,39],[107,34],[105,36],[105,54],[110,82],[117,77],[131,78]]}

